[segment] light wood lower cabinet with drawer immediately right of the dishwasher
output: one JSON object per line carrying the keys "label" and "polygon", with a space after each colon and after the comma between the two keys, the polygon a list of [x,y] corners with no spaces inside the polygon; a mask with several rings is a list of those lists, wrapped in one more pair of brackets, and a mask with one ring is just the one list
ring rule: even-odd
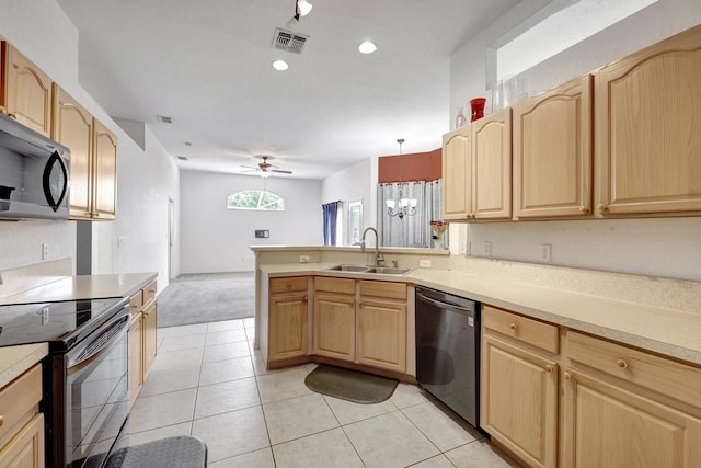
{"label": "light wood lower cabinet with drawer immediately right of the dishwasher", "polygon": [[489,306],[482,323],[480,425],[529,466],[558,466],[558,362],[536,350],[558,329]]}

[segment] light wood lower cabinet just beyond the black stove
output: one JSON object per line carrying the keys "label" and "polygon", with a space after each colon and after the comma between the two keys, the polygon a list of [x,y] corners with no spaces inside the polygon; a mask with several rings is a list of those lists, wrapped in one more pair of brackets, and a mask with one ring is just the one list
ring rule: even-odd
{"label": "light wood lower cabinet just beyond the black stove", "polygon": [[131,403],[138,397],[157,354],[158,339],[157,282],[149,283],[131,296],[129,309],[129,397]]}

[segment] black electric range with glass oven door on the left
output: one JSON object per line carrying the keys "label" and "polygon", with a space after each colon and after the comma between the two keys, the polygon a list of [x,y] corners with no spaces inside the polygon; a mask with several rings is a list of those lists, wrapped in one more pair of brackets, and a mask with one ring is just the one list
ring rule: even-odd
{"label": "black electric range with glass oven door on the left", "polygon": [[129,412],[128,299],[0,307],[0,346],[48,342],[46,466],[100,467]]}

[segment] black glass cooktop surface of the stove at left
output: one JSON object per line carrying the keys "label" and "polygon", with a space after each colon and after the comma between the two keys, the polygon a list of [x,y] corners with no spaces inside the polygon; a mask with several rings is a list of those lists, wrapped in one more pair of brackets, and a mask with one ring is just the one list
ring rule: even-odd
{"label": "black glass cooktop surface of the stove at left", "polygon": [[70,347],[126,301],[118,297],[0,306],[0,346],[48,342],[51,350]]}

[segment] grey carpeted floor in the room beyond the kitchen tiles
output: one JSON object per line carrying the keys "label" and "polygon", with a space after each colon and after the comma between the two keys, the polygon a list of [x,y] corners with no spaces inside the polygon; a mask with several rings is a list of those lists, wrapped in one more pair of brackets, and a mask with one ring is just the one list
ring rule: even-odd
{"label": "grey carpeted floor in the room beyond the kitchen tiles", "polygon": [[158,297],[158,326],[246,319],[255,311],[253,272],[181,275]]}

